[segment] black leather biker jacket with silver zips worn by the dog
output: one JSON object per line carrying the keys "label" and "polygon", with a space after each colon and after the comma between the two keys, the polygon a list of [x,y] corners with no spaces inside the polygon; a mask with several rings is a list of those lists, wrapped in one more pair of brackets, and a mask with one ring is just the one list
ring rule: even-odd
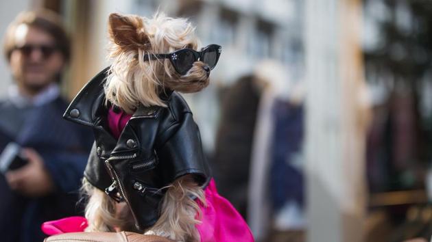
{"label": "black leather biker jacket with silver zips worn by the dog", "polygon": [[112,198],[127,202],[136,228],[144,230],[160,215],[163,187],[186,174],[205,186],[210,172],[200,131],[177,92],[161,96],[167,107],[139,106],[119,139],[112,137],[103,88],[107,70],[84,86],[63,117],[93,127],[95,144],[84,176]]}

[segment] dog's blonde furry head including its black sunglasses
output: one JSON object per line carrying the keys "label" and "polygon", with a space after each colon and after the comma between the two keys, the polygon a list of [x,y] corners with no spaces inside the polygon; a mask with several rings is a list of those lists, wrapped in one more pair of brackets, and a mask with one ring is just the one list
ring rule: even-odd
{"label": "dog's blonde furry head including its black sunglasses", "polygon": [[[219,58],[220,46],[198,52],[195,28],[184,18],[110,14],[110,102],[132,112],[138,103],[164,106],[165,90],[199,92]],[[204,63],[207,62],[207,63]],[[208,63],[210,62],[210,63]]]}

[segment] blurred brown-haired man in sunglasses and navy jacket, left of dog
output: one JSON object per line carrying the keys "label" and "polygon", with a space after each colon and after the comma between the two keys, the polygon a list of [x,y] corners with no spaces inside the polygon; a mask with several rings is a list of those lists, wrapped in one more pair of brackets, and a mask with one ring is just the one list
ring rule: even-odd
{"label": "blurred brown-haired man in sunglasses and navy jacket, left of dog", "polygon": [[48,10],[22,12],[5,32],[3,52],[14,84],[0,101],[0,131],[23,147],[28,162],[0,176],[3,242],[42,241],[43,221],[77,213],[93,135],[62,119],[67,101],[59,83],[69,45],[60,17]]}

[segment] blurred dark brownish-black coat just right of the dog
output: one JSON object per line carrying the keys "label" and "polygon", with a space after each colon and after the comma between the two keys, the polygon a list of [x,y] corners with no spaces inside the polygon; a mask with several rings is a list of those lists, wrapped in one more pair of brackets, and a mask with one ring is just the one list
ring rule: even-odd
{"label": "blurred dark brownish-black coat just right of the dog", "polygon": [[261,95],[253,79],[252,75],[241,77],[222,98],[213,162],[219,193],[245,219],[252,141]]}

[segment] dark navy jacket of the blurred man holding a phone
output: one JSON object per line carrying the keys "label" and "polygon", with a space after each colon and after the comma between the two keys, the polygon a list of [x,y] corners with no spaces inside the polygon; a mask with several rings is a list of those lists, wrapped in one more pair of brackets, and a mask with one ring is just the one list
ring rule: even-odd
{"label": "dark navy jacket of the blurred man holding a phone", "polygon": [[[42,198],[25,198],[12,192],[0,175],[1,241],[42,241],[44,221],[82,213],[77,209],[78,189],[93,143],[90,129],[62,119],[67,102],[58,97],[38,107],[0,103],[0,130],[25,148],[34,148],[43,158],[56,187]],[[5,143],[5,142],[3,142]],[[4,147],[0,147],[0,152]]]}

